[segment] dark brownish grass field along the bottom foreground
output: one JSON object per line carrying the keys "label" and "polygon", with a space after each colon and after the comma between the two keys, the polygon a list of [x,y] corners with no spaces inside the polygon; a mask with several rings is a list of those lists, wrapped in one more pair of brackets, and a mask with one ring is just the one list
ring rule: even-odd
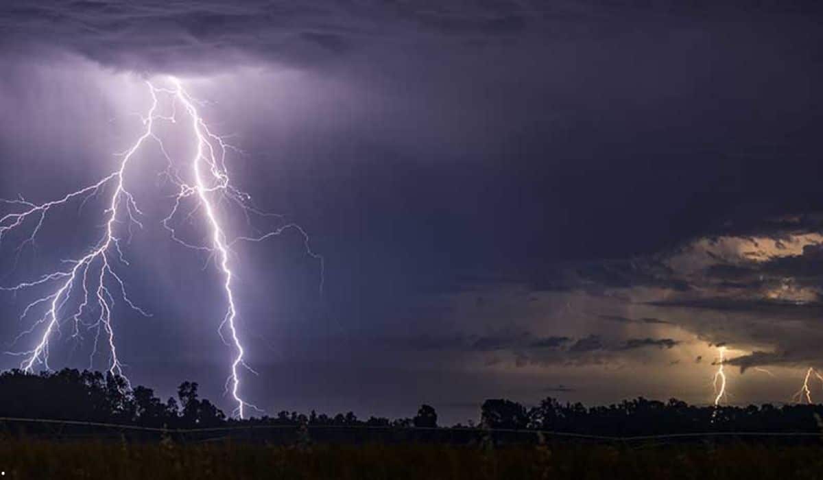
{"label": "dark brownish grass field along the bottom foreground", "polygon": [[823,478],[819,446],[175,445],[4,440],[2,478]]}

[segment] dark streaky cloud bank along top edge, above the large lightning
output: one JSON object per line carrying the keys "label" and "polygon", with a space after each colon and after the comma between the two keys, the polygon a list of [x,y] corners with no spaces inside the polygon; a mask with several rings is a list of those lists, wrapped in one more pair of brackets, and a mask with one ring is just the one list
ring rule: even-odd
{"label": "dark streaky cloud bank along top edge, above the large lightning", "polygon": [[260,59],[306,65],[385,41],[491,40],[545,24],[514,3],[427,3],[6,2],[0,31],[18,49],[58,45],[119,68],[174,71]]}

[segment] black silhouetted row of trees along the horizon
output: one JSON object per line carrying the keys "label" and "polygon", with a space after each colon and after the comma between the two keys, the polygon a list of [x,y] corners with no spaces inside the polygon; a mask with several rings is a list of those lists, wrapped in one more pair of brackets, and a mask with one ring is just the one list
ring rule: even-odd
{"label": "black silhouetted row of trees along the horizon", "polygon": [[[303,426],[439,426],[435,408],[421,405],[416,415],[388,419],[359,419],[353,412],[326,415],[279,412],[273,417],[235,420],[206,398],[198,384],[185,381],[177,397],[158,398],[154,390],[131,386],[118,375],[64,369],[29,374],[8,370],[0,374],[0,417],[48,418],[165,428],[234,425]],[[504,398],[481,404],[477,422],[455,427],[504,430],[546,430],[607,436],[642,436],[707,431],[820,432],[823,405],[696,406],[675,398],[667,402],[635,398],[608,406],[585,407],[545,398],[527,407]]]}

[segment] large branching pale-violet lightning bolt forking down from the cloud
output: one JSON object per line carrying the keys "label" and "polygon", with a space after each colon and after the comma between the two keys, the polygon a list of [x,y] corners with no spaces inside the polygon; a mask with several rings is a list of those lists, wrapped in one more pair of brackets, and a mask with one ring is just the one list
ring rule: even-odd
{"label": "large branching pale-violet lightning bolt forking down from the cloud", "polygon": [[[90,367],[93,364],[98,350],[100,336],[105,337],[109,350],[109,372],[112,375],[123,375],[123,364],[117,355],[115,344],[114,326],[112,323],[112,310],[114,308],[115,296],[119,297],[129,308],[137,311],[141,315],[150,315],[145,310],[135,305],[128,296],[125,282],[119,275],[119,268],[128,266],[128,260],[123,254],[121,244],[123,235],[131,237],[132,227],[142,228],[140,218],[143,212],[137,206],[135,198],[127,188],[128,167],[133,163],[135,153],[143,147],[147,141],[156,142],[161,153],[168,161],[168,166],[161,175],[170,180],[178,189],[174,195],[174,206],[167,217],[162,220],[162,226],[170,231],[172,240],[189,249],[202,250],[209,254],[209,259],[215,259],[217,268],[222,276],[222,289],[226,298],[226,312],[217,329],[221,339],[226,345],[233,347],[235,353],[230,365],[230,375],[226,380],[226,391],[230,393],[237,407],[233,412],[235,416],[243,418],[246,408],[256,408],[251,403],[246,402],[240,394],[241,375],[240,370],[245,369],[254,373],[244,361],[245,350],[239,335],[239,325],[237,323],[238,309],[236,305],[236,295],[232,280],[235,273],[231,267],[232,246],[239,241],[260,242],[268,238],[280,235],[284,231],[297,231],[303,238],[305,251],[309,256],[319,260],[320,264],[320,289],[323,289],[323,257],[315,254],[309,248],[309,235],[298,225],[288,223],[277,227],[277,229],[267,232],[255,230],[255,235],[241,235],[234,239],[229,239],[226,235],[226,228],[221,223],[218,215],[218,207],[222,203],[233,203],[239,207],[249,224],[252,226],[251,217],[280,217],[259,211],[251,203],[248,193],[236,189],[230,183],[229,172],[226,169],[226,153],[236,150],[235,147],[225,142],[223,137],[213,133],[207,123],[198,112],[200,103],[190,96],[184,88],[182,82],[175,77],[169,78],[170,88],[159,87],[146,81],[146,87],[151,94],[151,106],[146,116],[142,117],[143,130],[137,141],[133,143],[127,151],[121,155],[118,170],[103,177],[95,184],[91,184],[74,192],[67,193],[58,200],[46,203],[30,203],[24,198],[17,200],[0,200],[2,204],[12,207],[11,213],[0,217],[0,241],[12,231],[27,231],[26,238],[18,246],[17,252],[26,245],[35,245],[35,240],[41,231],[47,217],[52,215],[55,207],[67,206],[70,203],[79,203],[81,209],[91,198],[103,194],[110,189],[108,197],[108,207],[104,211],[105,229],[95,245],[91,246],[86,254],[81,254],[75,259],[63,260],[63,268],[55,268],[49,273],[37,277],[33,280],[21,282],[10,287],[0,287],[2,291],[25,291],[39,287],[49,288],[49,291],[39,298],[31,301],[23,309],[21,319],[26,319],[33,312],[44,309],[40,313],[34,324],[16,339],[15,343],[30,333],[34,333],[39,327],[43,327],[40,333],[40,341],[35,347],[24,352],[8,352],[12,355],[24,357],[21,362],[21,369],[32,372],[35,367],[42,366],[49,369],[49,346],[55,334],[58,333],[61,325],[72,323],[71,338],[81,338],[81,327],[95,331],[94,346],[90,357]],[[163,115],[158,113],[160,97],[163,97],[171,105],[171,114]],[[184,114],[190,121],[189,128],[193,135],[195,153],[188,161],[188,175],[181,173],[174,160],[169,155],[163,142],[156,133],[155,126],[158,122],[176,123],[178,108],[183,107]],[[188,178],[188,179],[186,179]],[[188,213],[183,212],[184,205],[193,203]],[[207,245],[185,240],[178,235],[174,226],[179,217],[189,220],[197,212],[202,212],[210,231],[210,241]],[[122,225],[126,226],[123,231]],[[30,230],[26,230],[30,229]],[[128,240],[127,239],[127,240]],[[76,297],[76,298],[75,298]],[[71,305],[71,308],[69,307]],[[96,315],[90,321],[86,319],[91,311],[96,311]],[[228,333],[226,336],[225,333]],[[228,337],[228,338],[226,338]],[[128,379],[126,379],[128,384]]]}

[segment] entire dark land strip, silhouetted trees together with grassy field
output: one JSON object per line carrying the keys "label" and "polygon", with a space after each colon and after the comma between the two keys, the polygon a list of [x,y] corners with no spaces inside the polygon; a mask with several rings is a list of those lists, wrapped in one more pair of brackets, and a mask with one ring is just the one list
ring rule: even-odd
{"label": "entire dark land strip, silhouetted trees together with grassy field", "polygon": [[[526,408],[481,406],[474,429],[438,426],[435,408],[411,418],[359,420],[281,412],[226,416],[198,385],[165,402],[98,372],[0,374],[0,417],[114,423],[0,421],[2,478],[823,478],[820,405],[695,407],[637,398],[585,408],[546,398]],[[127,428],[123,426],[134,426]],[[148,427],[146,430],[143,427]],[[341,428],[342,427],[342,428]],[[192,430],[193,429],[193,430]],[[614,441],[543,431],[641,436],[705,431],[802,431],[817,436]]]}

